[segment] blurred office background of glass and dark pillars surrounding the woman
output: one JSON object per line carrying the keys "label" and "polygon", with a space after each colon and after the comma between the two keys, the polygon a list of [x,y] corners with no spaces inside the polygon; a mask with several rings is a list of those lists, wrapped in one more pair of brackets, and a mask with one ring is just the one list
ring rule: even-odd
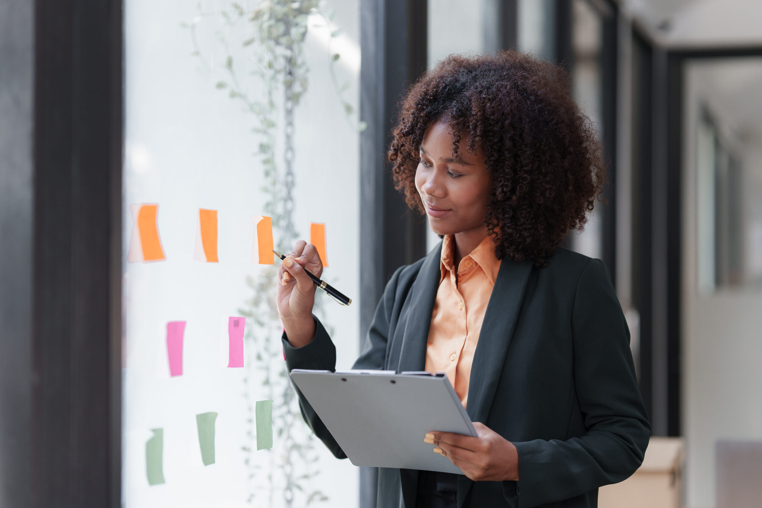
{"label": "blurred office background of glass and dark pillars surrounding the woman", "polygon": [[[610,270],[653,437],[599,506],[760,506],[760,22],[757,0],[0,0],[0,506],[374,508],[376,471],[299,416],[251,218],[283,249],[325,223],[324,278],[355,303],[317,312],[351,367],[389,276],[439,240],[385,162],[402,94],[511,48],[571,73],[608,161],[565,246]],[[127,261],[140,203],[165,260]],[[198,209],[219,263],[194,260]],[[229,316],[243,369],[219,361]]]}

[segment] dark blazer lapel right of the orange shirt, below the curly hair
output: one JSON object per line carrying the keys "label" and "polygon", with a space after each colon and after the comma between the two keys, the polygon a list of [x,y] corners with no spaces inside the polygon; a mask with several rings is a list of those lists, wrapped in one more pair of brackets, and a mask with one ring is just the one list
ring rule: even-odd
{"label": "dark blazer lapel right of the orange shirt, below the curly hair", "polygon": [[501,263],[471,365],[466,412],[472,421],[487,420],[532,265],[531,261],[517,263],[509,259]]}

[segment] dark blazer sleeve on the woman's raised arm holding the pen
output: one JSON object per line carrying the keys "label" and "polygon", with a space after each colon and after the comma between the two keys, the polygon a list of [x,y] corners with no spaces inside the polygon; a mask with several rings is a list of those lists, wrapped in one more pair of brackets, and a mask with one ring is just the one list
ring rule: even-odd
{"label": "dark blazer sleeve on the woman's raised arm holding the pen", "polygon": [[[360,358],[354,363],[353,369],[382,370],[384,368],[386,343],[389,337],[389,323],[392,321],[397,281],[401,271],[402,267],[394,273],[389,283],[386,284],[383,297],[376,307],[376,314],[373,315],[373,321],[370,323],[365,347],[363,347]],[[286,332],[283,331],[283,336],[281,337],[283,356],[286,356],[286,366],[289,372],[292,369],[330,370],[331,372],[336,370],[336,346],[328,335],[328,332],[325,331],[325,327],[320,320],[314,315],[312,318],[315,320],[315,337],[306,346],[291,347]],[[296,385],[293,385],[293,388],[296,390],[296,395],[299,398],[302,416],[307,425],[312,429],[312,432],[315,433],[315,436],[318,436],[337,458],[347,458],[347,454],[344,453],[341,446],[338,446],[336,439],[328,432],[325,424],[320,420],[315,410],[312,409],[312,406],[302,395],[302,392],[299,391],[299,388],[296,388]]]}

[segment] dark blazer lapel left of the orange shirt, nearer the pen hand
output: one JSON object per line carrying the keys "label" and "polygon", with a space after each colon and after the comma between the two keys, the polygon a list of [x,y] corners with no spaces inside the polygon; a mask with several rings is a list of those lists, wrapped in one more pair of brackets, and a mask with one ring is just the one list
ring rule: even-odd
{"label": "dark blazer lapel left of the orange shirt, nearer the pen hand", "polygon": [[440,248],[434,248],[429,252],[411,288],[410,307],[405,320],[397,372],[418,371],[426,367],[426,343],[431,327],[431,313],[434,312],[434,300],[437,299],[437,289],[442,276],[441,251],[440,244]]}

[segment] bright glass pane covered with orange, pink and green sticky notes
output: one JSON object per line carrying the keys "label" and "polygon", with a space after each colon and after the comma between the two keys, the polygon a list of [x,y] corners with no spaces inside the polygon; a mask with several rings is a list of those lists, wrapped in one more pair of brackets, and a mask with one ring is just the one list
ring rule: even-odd
{"label": "bright glass pane covered with orange, pink and green sticky notes", "polygon": [[287,381],[267,244],[325,225],[323,278],[354,303],[316,312],[350,368],[358,20],[357,0],[125,2],[126,508],[357,506]]}

